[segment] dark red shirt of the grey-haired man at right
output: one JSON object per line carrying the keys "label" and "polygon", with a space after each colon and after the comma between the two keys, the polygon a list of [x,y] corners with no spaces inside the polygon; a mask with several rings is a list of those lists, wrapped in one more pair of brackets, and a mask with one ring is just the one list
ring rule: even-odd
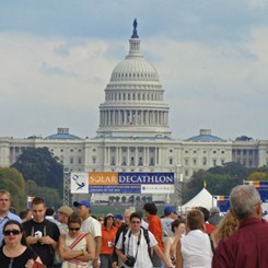
{"label": "dark red shirt of the grey-haired man at right", "polygon": [[268,226],[257,218],[249,218],[215,249],[212,268],[268,267]]}

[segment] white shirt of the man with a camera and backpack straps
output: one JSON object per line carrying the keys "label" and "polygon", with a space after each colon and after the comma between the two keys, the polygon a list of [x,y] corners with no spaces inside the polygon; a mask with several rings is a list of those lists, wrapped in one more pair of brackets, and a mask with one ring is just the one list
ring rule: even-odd
{"label": "white shirt of the man with a camera and backpack straps", "polygon": [[[126,233],[126,238],[125,238],[125,255],[130,255],[132,257],[136,257],[139,233],[131,234],[129,237],[129,232],[130,230],[128,230],[128,232]],[[150,240],[150,247],[158,245],[158,242],[154,235],[150,231],[148,231],[148,233],[149,233],[149,240]],[[116,248],[121,249],[123,248],[121,244],[123,244],[123,233],[119,236],[119,240],[116,244]],[[126,266],[125,264],[124,264],[124,267],[128,268],[128,266]],[[149,253],[148,253],[148,244],[147,244],[147,240],[144,237],[142,229],[141,229],[141,236],[140,236],[140,245],[138,247],[137,259],[136,259],[133,267],[135,268],[153,267]]]}

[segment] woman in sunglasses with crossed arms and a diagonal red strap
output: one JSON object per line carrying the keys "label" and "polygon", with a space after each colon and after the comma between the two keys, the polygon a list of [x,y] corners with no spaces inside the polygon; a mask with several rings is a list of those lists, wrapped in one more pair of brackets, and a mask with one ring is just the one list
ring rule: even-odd
{"label": "woman in sunglasses with crossed arms and a diagonal red strap", "polygon": [[67,234],[59,236],[59,256],[63,259],[62,268],[85,268],[95,256],[93,237],[80,231],[82,220],[78,213],[68,218]]}

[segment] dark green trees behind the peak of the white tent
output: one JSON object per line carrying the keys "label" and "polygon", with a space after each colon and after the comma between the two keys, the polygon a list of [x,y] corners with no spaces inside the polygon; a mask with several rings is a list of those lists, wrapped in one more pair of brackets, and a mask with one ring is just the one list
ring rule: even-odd
{"label": "dark green trees behind the peak of the white tent", "polygon": [[205,180],[210,194],[228,196],[234,186],[243,184],[252,171],[234,162],[214,166],[208,171],[200,170],[184,186],[183,202],[196,196],[203,188]]}

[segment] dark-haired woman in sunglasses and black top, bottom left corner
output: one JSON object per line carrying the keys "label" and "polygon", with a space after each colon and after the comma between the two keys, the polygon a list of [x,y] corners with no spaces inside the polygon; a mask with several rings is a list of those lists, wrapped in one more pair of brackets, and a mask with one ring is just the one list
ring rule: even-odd
{"label": "dark-haired woman in sunglasses and black top, bottom left corner", "polygon": [[27,245],[22,224],[9,220],[3,226],[3,243],[0,248],[1,268],[32,268],[34,260],[42,263],[34,250]]}

